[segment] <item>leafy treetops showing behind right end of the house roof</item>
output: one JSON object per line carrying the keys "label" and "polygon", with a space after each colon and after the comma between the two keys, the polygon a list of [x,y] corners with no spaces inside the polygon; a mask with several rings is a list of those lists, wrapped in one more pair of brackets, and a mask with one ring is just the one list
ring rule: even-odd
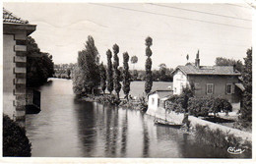
{"label": "leafy treetops showing behind right end of the house roof", "polygon": [[226,59],[224,57],[217,57],[215,61],[217,66],[234,66],[239,72],[242,72],[243,65],[240,60]]}

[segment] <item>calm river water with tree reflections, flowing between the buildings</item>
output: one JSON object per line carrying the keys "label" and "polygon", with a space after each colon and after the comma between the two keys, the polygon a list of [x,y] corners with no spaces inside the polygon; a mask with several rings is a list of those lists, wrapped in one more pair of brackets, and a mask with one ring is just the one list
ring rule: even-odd
{"label": "calm river water with tree reflections, flowing between the buildings", "polygon": [[26,118],[33,157],[244,157],[156,126],[139,111],[76,100],[72,81],[51,79],[39,90],[41,111]]}

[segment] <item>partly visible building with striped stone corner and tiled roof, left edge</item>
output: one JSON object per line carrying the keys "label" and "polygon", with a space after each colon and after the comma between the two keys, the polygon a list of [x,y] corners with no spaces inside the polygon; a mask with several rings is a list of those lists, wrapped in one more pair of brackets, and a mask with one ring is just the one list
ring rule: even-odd
{"label": "partly visible building with striped stone corner and tiled roof, left edge", "polygon": [[26,113],[26,39],[35,27],[3,9],[3,109],[19,123]]}

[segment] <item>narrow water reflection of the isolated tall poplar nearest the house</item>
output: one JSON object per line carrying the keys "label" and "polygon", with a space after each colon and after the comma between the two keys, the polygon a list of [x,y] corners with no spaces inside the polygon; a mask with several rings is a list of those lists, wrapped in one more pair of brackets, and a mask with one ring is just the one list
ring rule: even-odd
{"label": "narrow water reflection of the isolated tall poplar nearest the house", "polygon": [[146,121],[144,118],[144,115],[142,116],[142,122],[143,122],[143,157],[149,157],[149,149],[150,149],[150,137],[149,137],[149,131],[148,127],[146,125]]}

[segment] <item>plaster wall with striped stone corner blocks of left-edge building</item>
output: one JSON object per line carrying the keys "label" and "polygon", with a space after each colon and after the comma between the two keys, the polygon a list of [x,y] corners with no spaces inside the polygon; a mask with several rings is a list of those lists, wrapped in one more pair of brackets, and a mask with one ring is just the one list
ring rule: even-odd
{"label": "plaster wall with striped stone corner blocks of left-edge building", "polygon": [[26,114],[26,31],[13,31],[3,38],[4,113],[25,124]]}

